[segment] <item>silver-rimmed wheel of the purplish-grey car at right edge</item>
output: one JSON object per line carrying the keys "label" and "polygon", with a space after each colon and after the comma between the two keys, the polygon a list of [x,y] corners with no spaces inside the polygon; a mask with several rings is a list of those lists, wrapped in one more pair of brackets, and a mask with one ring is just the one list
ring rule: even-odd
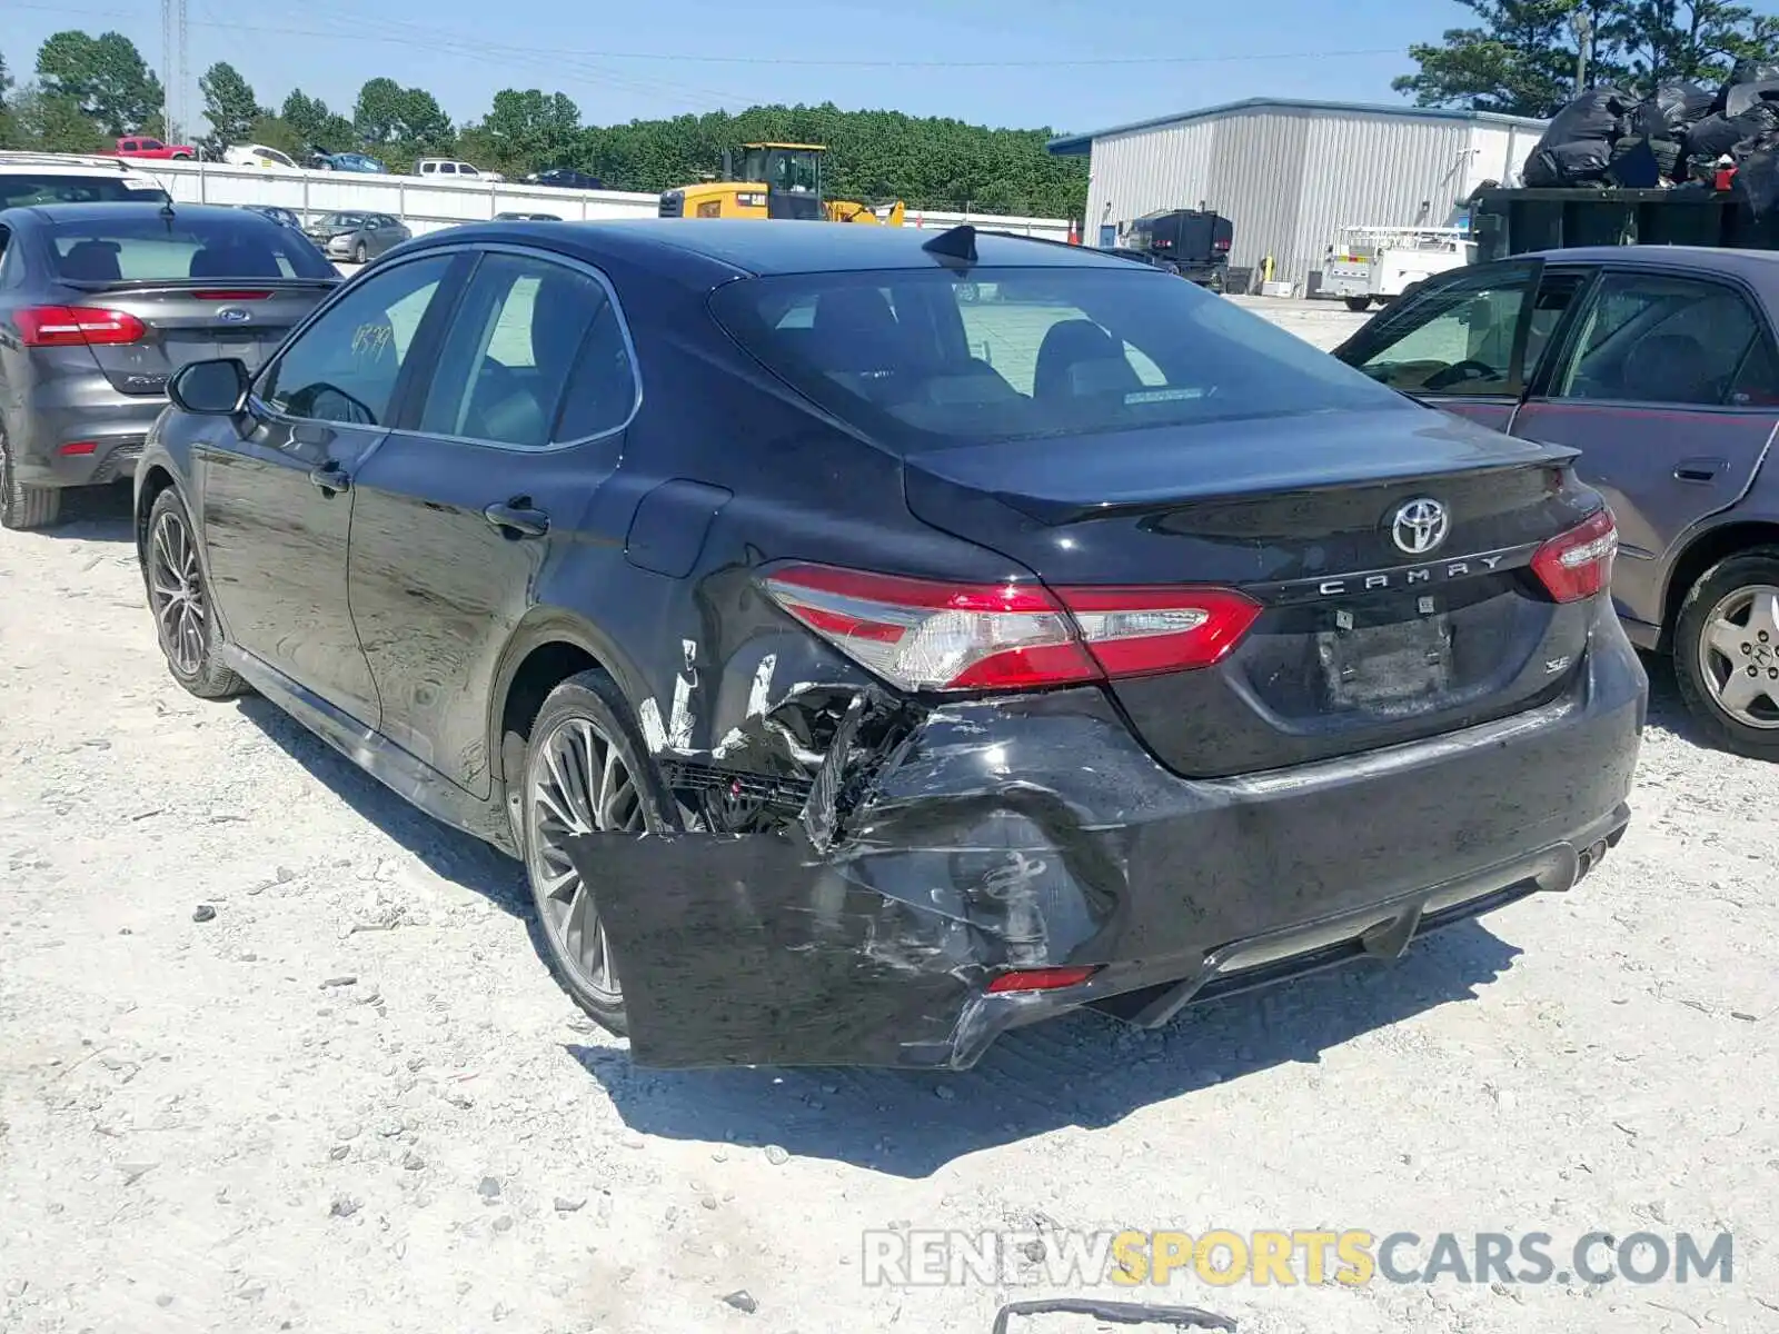
{"label": "silver-rimmed wheel of the purplish-grey car at right edge", "polygon": [[1751,759],[1779,759],[1779,548],[1708,569],[1674,623],[1674,676],[1711,738]]}

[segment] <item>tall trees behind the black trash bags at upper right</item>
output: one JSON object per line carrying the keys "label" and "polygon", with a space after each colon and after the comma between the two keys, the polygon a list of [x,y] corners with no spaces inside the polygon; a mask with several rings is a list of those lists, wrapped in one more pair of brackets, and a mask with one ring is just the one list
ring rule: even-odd
{"label": "tall trees behind the black trash bags at upper right", "polygon": [[[1779,16],[1727,0],[1457,0],[1469,27],[1409,48],[1416,73],[1393,82],[1421,107],[1555,116],[1587,84],[1647,92],[1662,80],[1715,87],[1738,59],[1779,55]],[[1578,21],[1580,20],[1580,21]]]}

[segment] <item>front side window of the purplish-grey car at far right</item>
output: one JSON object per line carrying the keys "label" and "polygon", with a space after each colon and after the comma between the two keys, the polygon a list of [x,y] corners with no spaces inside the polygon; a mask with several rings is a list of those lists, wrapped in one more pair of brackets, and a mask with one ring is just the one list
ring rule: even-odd
{"label": "front side window of the purplish-grey car at far right", "polygon": [[1514,393],[1514,334],[1532,279],[1516,267],[1423,290],[1377,318],[1356,365],[1404,393]]}

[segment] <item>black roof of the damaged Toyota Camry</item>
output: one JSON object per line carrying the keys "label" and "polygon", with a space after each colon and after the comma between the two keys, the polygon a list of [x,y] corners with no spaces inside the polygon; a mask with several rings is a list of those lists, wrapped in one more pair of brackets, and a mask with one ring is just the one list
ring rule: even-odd
{"label": "black roof of the damaged Toyota Camry", "polygon": [[[477,240],[470,228],[434,231],[439,242]],[[498,238],[534,235],[557,242],[575,238],[589,249],[642,256],[683,251],[742,274],[825,274],[870,269],[929,269],[938,256],[922,245],[941,235],[936,228],[881,228],[865,222],[790,222],[753,219],[639,217],[594,222],[505,222]],[[487,235],[487,240],[495,240]],[[1112,267],[1124,260],[1083,245],[977,231],[977,263],[1009,269]]]}

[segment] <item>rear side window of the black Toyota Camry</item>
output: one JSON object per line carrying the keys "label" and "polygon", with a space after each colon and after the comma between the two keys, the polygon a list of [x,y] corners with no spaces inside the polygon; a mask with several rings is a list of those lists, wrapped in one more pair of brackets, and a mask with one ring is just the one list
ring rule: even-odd
{"label": "rear side window of the black Toyota Camry", "polygon": [[[608,352],[614,342],[621,358],[591,352],[592,343]],[[633,398],[605,288],[559,263],[489,254],[452,318],[420,430],[543,448],[623,425]],[[573,422],[557,429],[564,400]]]}

